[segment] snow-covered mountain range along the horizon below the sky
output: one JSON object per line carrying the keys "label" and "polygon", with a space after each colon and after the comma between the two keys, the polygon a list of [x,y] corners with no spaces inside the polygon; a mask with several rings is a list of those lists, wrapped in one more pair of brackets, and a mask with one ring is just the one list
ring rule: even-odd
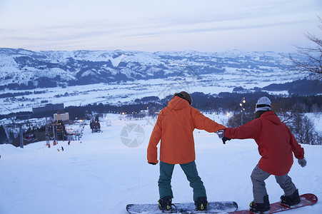
{"label": "snow-covered mountain range along the horizon below the sky", "polygon": [[[284,54],[287,55],[287,54]],[[288,58],[275,52],[29,51],[0,49],[0,86],[33,89],[216,73],[280,73]]]}

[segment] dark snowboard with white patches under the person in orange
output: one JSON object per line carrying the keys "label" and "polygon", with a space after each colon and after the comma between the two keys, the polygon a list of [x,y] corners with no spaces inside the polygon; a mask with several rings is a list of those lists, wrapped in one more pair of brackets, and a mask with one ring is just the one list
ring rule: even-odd
{"label": "dark snowboard with white patches under the person in orange", "polygon": [[[205,211],[196,211],[194,203],[174,203],[171,213],[193,214],[193,213],[222,213],[232,212],[238,209],[234,201],[213,201],[208,202],[208,208]],[[131,214],[163,214],[159,209],[158,203],[153,204],[129,204],[126,210]]]}

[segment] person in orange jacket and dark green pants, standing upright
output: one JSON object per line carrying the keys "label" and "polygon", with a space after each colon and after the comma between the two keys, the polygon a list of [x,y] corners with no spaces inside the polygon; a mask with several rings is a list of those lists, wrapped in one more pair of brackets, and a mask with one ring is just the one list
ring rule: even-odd
{"label": "person in orange jacket and dark green pants, standing upright", "polygon": [[203,116],[196,108],[191,107],[192,99],[186,91],[175,93],[168,106],[163,108],[152,131],[148,146],[148,163],[156,165],[157,145],[160,146],[159,208],[171,211],[173,193],[171,177],[175,164],[179,164],[193,188],[193,200],[196,210],[206,210],[208,201],[206,188],[198,175],[196,154],[193,141],[195,128],[216,132],[225,126]]}

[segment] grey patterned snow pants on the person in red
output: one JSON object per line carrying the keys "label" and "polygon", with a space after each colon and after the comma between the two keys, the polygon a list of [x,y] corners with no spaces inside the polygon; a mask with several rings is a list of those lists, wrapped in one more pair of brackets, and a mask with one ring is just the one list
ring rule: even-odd
{"label": "grey patterned snow pants on the person in red", "polygon": [[[258,165],[253,169],[251,173],[251,182],[253,183],[253,202],[263,203],[263,196],[267,195],[265,181],[271,174],[261,170]],[[281,186],[285,195],[291,195],[296,190],[296,186],[292,182],[292,179],[286,175],[275,175],[276,182]]]}

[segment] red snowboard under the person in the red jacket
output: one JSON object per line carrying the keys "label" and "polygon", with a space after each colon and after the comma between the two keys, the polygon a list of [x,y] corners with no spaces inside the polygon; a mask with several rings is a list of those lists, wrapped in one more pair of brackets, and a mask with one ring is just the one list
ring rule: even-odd
{"label": "red snowboard under the person in the red jacket", "polygon": [[[314,205],[318,202],[318,197],[316,197],[316,195],[311,194],[311,193],[306,193],[303,195],[300,195],[301,198],[301,203],[299,203],[298,205],[295,206],[288,206],[285,205],[283,203],[271,203],[271,210],[269,210],[269,212],[265,212],[266,214],[270,214],[270,213],[278,213],[278,212],[282,212],[285,210],[293,210],[293,209],[297,209],[297,208],[302,208],[308,205]],[[249,210],[238,210],[238,211],[233,211],[233,212],[228,212],[230,214],[253,214],[253,212],[249,211]]]}

